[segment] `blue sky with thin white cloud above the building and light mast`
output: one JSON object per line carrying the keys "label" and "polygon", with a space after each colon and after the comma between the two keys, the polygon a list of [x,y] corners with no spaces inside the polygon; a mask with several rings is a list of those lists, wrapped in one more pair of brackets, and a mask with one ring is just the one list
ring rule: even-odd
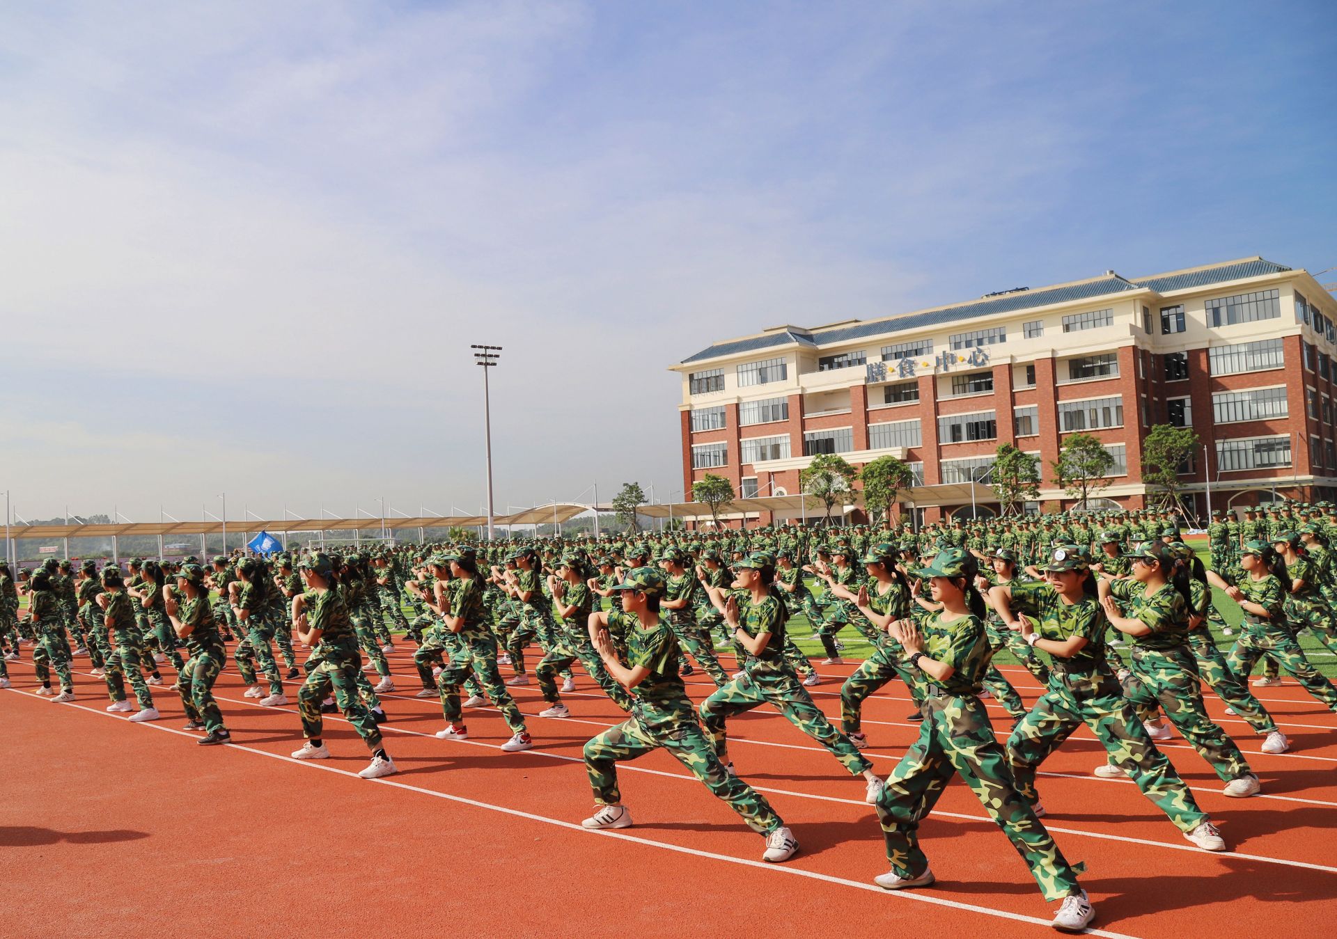
{"label": "blue sky with thin white cloud above the building and light mast", "polygon": [[0,489],[473,509],[491,342],[501,510],[662,498],[713,339],[1337,264],[1334,52],[1298,1],[7,4]]}

